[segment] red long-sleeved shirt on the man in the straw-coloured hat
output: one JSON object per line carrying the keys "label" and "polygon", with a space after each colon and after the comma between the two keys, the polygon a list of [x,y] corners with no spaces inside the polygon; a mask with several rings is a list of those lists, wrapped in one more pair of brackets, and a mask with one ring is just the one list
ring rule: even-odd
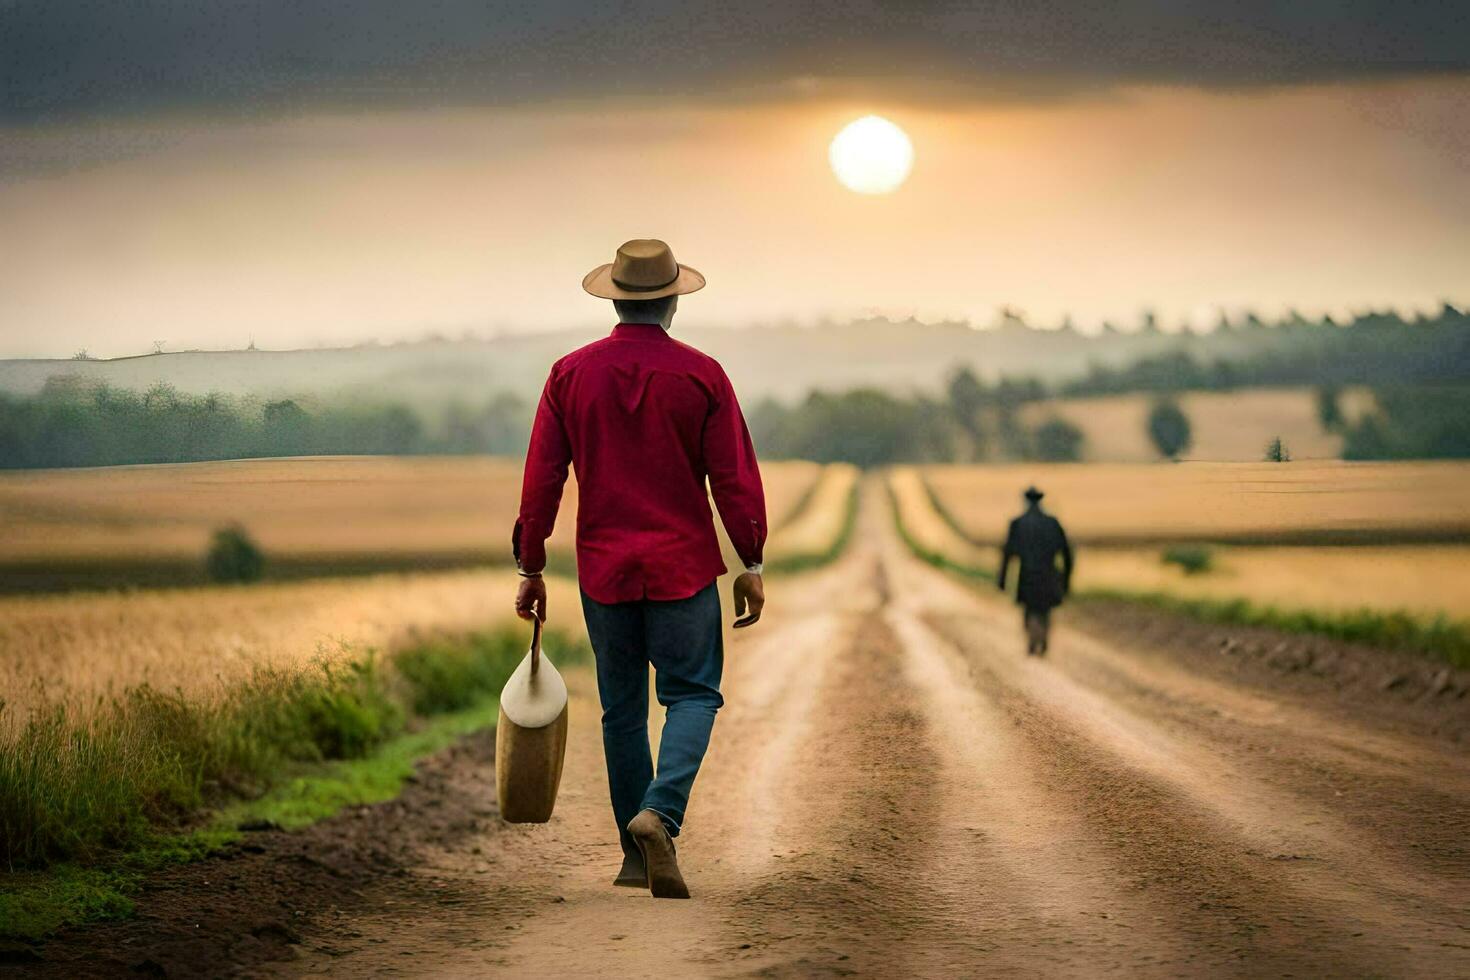
{"label": "red long-sleeved shirt on the man in the straw-coloured hat", "polygon": [[578,580],[598,602],[682,599],[725,572],[706,478],[741,561],[761,560],[766,495],[729,378],[656,323],[619,323],[551,366],[512,533],[525,572],[545,567],[567,464]]}

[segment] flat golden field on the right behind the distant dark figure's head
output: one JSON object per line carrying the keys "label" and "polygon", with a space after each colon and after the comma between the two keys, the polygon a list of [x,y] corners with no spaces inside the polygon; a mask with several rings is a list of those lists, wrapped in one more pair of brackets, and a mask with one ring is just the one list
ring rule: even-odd
{"label": "flat golden field on the right behind the distant dark figure's head", "polygon": [[1470,539],[1470,463],[929,466],[945,510],[1000,544],[1035,483],[1088,544],[1324,544]]}

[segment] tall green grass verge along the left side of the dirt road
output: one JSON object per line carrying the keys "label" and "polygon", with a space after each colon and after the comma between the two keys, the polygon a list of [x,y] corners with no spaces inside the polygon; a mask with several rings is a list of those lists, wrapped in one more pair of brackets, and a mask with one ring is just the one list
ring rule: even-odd
{"label": "tall green grass verge along the left side of the dirt road", "polygon": [[[522,630],[260,671],[210,701],[137,688],[51,705],[0,748],[0,937],[128,915],[147,874],[238,837],[391,799],[417,760],[494,724]],[[563,663],[585,644],[548,638]]]}

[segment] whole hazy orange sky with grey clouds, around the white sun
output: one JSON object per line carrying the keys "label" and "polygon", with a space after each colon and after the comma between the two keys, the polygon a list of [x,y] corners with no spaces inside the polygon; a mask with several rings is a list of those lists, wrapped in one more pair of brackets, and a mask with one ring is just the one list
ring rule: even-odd
{"label": "whole hazy orange sky with grey clouds, around the white sun", "polygon": [[1470,301],[1463,4],[347,6],[0,3],[0,354],[598,323],[632,237],[698,323]]}

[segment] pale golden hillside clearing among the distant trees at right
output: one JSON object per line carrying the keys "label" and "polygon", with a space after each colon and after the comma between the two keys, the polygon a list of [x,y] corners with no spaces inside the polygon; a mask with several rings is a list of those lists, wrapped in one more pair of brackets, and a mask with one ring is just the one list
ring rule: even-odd
{"label": "pale golden hillside clearing among the distant trees at right", "polygon": [[[1036,425],[1060,416],[1078,426],[1086,436],[1086,461],[1151,463],[1158,458],[1145,430],[1151,404],[1151,397],[1139,394],[1067,398],[1026,406],[1022,419]],[[1339,404],[1348,419],[1357,419],[1373,408],[1373,394],[1351,388]],[[1182,394],[1179,406],[1194,433],[1185,453],[1189,460],[1252,463],[1263,458],[1266,444],[1276,436],[1297,460],[1335,460],[1342,454],[1342,436],[1323,430],[1317,419],[1311,388],[1195,391]]]}

